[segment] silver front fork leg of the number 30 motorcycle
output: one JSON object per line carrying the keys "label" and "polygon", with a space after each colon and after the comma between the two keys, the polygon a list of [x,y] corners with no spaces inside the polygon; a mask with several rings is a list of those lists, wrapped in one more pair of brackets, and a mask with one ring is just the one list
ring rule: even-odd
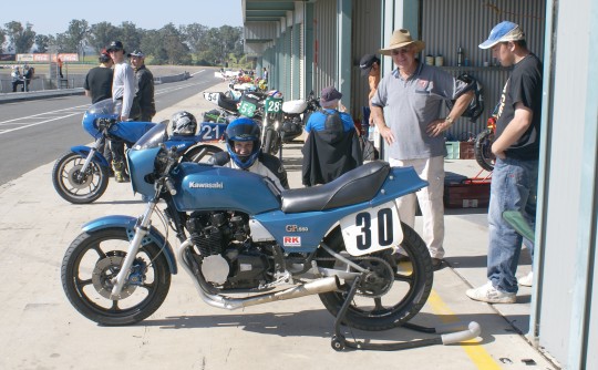
{"label": "silver front fork leg of the number 30 motorcycle", "polygon": [[145,213],[143,216],[137,220],[137,225],[135,225],[135,236],[133,237],[133,240],[131,240],[131,244],[128,245],[128,249],[126,250],[126,256],[123,261],[123,265],[121,266],[121,270],[118,271],[118,275],[116,275],[116,278],[112,280],[113,287],[112,287],[112,294],[111,299],[118,299],[121,291],[123,290],[123,286],[125,281],[128,279],[128,276],[131,274],[131,266],[133,266],[133,261],[135,260],[135,256],[137,255],[137,251],[140,250],[140,247],[142,246],[142,241],[145,238],[147,234],[150,234],[150,227],[152,225],[152,215],[154,214],[154,210],[157,206],[157,197],[156,201],[152,201],[147,204],[147,208],[145,209]]}

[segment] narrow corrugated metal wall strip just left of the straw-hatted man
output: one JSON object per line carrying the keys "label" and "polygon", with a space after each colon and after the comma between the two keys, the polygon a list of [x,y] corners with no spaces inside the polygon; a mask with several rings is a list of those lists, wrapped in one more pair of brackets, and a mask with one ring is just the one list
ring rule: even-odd
{"label": "narrow corrugated metal wall strip just left of the straw-hatted man", "polygon": [[368,105],[368,78],[361,76],[359,61],[364,54],[378,54],[382,34],[382,0],[353,0],[352,10],[353,68],[351,69],[351,115],[360,119],[361,106]]}

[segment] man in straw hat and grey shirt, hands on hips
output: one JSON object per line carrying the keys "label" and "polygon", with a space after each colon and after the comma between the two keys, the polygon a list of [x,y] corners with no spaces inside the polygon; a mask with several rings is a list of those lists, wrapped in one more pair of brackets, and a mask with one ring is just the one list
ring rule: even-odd
{"label": "man in straw hat and grey shirt, hands on hips", "polygon": [[[465,111],[473,97],[472,86],[448,73],[419,62],[415,56],[425,43],[413,40],[408,30],[393,32],[389,47],[380,53],[392,55],[396,69],[385,75],[371,101],[380,135],[389,145],[392,166],[413,166],[430,185],[416,194],[396,199],[401,219],[413,227],[415,199],[423,216],[423,239],[434,269],[444,257],[444,156],[443,132]],[[441,117],[445,101],[456,100],[447,116]],[[386,112],[388,121],[383,111]],[[396,260],[406,260],[399,248]]]}

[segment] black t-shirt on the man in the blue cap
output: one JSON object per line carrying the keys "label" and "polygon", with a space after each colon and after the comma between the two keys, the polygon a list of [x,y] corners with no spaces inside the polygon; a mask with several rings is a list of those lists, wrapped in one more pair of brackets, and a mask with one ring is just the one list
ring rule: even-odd
{"label": "black t-shirt on the man in the blue cap", "polygon": [[529,129],[505,152],[507,157],[537,160],[542,113],[542,62],[529,53],[514,65],[501,94],[496,137],[501,136],[515,116],[515,104],[523,103],[534,112]]}

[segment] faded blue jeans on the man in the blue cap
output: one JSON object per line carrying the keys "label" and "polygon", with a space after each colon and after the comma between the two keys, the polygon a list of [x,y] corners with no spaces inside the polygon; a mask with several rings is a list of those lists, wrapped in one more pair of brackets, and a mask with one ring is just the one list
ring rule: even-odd
{"label": "faded blue jeans on the man in the blue cap", "polygon": [[[520,210],[534,227],[538,161],[496,158],[488,209],[488,280],[498,290],[517,292],[515,273],[523,237],[503,219],[504,210]],[[533,245],[534,240],[530,240]]]}

